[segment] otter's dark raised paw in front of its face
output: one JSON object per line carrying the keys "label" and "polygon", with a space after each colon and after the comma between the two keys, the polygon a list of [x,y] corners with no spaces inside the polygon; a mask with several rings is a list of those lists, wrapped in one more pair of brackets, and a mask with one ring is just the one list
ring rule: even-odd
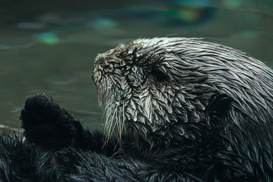
{"label": "otter's dark raised paw in front of its face", "polygon": [[29,97],[20,119],[26,140],[43,146],[68,146],[77,132],[78,121],[45,96]]}

